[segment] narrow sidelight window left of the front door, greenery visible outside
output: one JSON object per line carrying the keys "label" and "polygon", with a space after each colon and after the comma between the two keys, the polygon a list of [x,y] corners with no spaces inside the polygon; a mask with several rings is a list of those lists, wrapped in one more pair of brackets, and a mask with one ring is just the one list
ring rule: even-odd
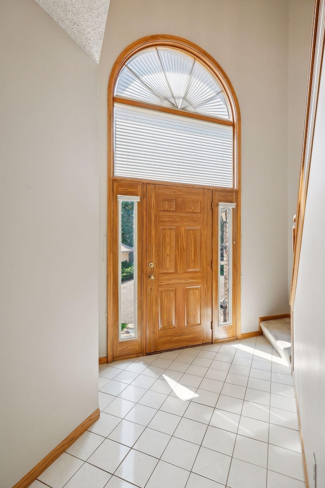
{"label": "narrow sidelight window left of the front door, greenery visible outside", "polygon": [[119,340],[137,339],[138,202],[118,195]]}

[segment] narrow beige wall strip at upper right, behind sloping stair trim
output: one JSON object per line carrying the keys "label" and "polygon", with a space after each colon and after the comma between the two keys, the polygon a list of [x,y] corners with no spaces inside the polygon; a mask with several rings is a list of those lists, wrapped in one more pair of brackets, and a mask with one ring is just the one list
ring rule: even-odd
{"label": "narrow beige wall strip at upper right, behind sloping stair trim", "polygon": [[288,290],[293,268],[292,227],[297,211],[298,185],[306,110],[313,0],[289,0],[288,30]]}

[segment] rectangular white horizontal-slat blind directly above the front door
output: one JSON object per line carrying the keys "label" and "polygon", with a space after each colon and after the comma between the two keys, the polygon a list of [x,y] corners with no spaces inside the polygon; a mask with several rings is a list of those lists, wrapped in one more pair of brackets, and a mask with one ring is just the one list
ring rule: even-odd
{"label": "rectangular white horizontal-slat blind directly above the front door", "polygon": [[233,187],[233,128],[115,104],[114,175]]}

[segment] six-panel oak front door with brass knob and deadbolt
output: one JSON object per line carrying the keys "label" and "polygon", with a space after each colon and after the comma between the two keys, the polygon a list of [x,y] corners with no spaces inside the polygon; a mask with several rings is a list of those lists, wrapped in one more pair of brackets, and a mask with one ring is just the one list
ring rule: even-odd
{"label": "six-panel oak front door with brass knob and deadbolt", "polygon": [[147,353],[211,342],[211,202],[211,190],[147,185]]}

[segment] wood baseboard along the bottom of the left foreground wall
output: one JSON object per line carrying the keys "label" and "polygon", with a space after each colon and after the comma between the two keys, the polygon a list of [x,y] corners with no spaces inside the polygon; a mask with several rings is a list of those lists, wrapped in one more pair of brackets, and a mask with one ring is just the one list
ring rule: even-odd
{"label": "wood baseboard along the bottom of the left foreground wall", "polygon": [[54,461],[66,451],[96,420],[100,418],[100,409],[95,410],[86,418],[78,427],[63,439],[47,456],[42,459],[34,468],[32,468],[13,488],[27,488],[35,481],[43,471],[45,471]]}

